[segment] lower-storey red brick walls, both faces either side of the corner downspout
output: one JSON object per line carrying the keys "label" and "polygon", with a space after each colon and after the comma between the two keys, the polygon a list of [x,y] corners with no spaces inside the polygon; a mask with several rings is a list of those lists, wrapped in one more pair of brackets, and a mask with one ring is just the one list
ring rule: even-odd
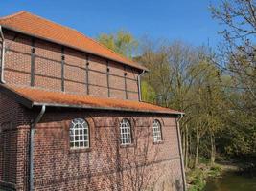
{"label": "lower-storey red brick walls, both faces either side of the corner downspout", "polygon": [[[0,146],[0,188],[28,190],[29,127],[39,110],[29,111],[2,94],[0,101],[1,105],[9,103],[1,107],[0,124],[12,121],[12,127],[6,128],[10,133],[0,133],[1,145],[6,144],[3,136],[11,143],[5,154]],[[89,150],[69,147],[69,123],[77,117],[90,125]],[[120,146],[119,121],[124,117],[131,121],[137,147],[134,143],[128,148]],[[162,124],[164,141],[160,144],[152,143],[154,118]],[[154,190],[182,190],[176,133],[175,117],[170,116],[47,108],[35,131],[35,190],[132,190],[131,177],[135,175],[147,180],[144,186]],[[147,155],[142,152],[145,145]],[[3,161],[11,158],[3,167]],[[135,171],[134,165],[140,170]]]}

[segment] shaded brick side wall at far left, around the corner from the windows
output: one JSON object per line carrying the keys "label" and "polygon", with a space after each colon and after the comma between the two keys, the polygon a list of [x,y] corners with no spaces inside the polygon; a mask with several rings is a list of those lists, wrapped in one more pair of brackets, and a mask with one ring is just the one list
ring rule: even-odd
{"label": "shaded brick side wall at far left, around the corner from the windows", "polygon": [[20,170],[23,168],[20,164],[27,165],[28,161],[23,159],[20,162],[20,159],[28,155],[26,153],[28,145],[24,146],[20,141],[27,141],[28,138],[24,137],[21,140],[20,132],[16,127],[28,124],[28,121],[24,108],[0,93],[0,189],[15,188],[18,181],[25,178],[20,176]]}

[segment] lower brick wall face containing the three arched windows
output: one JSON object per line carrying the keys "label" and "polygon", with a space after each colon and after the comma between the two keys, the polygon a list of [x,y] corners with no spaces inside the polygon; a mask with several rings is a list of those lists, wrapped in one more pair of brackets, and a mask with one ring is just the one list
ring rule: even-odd
{"label": "lower brick wall face containing the three arched windows", "polygon": [[[77,117],[90,125],[88,150],[69,147],[69,123]],[[119,121],[124,117],[131,121],[137,147],[135,143],[128,148],[120,146]],[[162,123],[164,141],[160,144],[153,144],[153,118]],[[131,190],[135,175],[149,181],[145,186],[155,184],[154,190],[171,190],[182,185],[176,135],[174,117],[48,111],[35,133],[35,190]],[[145,144],[147,155],[141,151]],[[134,165],[141,165],[141,171],[136,173]]]}

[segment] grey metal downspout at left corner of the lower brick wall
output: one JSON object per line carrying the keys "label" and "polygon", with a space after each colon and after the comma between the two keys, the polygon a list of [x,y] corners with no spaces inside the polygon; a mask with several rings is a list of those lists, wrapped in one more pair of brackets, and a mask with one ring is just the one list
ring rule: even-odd
{"label": "grey metal downspout at left corner of the lower brick wall", "polygon": [[34,135],[35,135],[35,126],[41,120],[45,113],[46,106],[43,105],[39,115],[35,118],[31,126],[30,131],[30,191],[34,190]]}

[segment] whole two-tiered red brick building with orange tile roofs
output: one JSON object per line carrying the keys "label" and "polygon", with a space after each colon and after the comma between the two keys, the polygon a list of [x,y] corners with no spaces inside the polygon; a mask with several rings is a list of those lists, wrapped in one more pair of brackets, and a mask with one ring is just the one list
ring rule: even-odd
{"label": "whole two-tiered red brick building with orange tile roofs", "polygon": [[147,68],[26,11],[0,26],[0,189],[185,190],[182,113],[140,100]]}

